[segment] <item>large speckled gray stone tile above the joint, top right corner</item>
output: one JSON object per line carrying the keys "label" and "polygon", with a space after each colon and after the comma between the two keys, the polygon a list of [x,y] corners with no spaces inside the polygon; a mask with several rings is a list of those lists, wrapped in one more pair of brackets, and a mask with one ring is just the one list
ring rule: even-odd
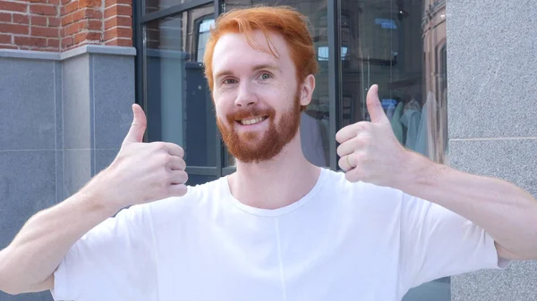
{"label": "large speckled gray stone tile above the joint, top right corner", "polygon": [[447,1],[450,138],[537,136],[536,14],[528,1]]}

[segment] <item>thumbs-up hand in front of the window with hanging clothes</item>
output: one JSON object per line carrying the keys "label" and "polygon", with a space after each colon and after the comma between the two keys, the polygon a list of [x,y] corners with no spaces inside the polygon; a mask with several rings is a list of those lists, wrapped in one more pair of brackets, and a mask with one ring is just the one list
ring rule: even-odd
{"label": "thumbs-up hand in front of the window with hanging clothes", "polygon": [[405,174],[409,151],[397,140],[388,116],[379,102],[379,87],[367,94],[371,122],[360,121],[339,130],[336,135],[338,165],[349,181],[364,181],[396,187]]}

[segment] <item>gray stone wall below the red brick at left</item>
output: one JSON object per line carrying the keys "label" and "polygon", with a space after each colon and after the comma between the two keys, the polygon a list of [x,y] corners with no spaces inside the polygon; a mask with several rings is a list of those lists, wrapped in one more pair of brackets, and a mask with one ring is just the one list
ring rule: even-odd
{"label": "gray stone wall below the red brick at left", "polygon": [[[132,121],[131,47],[0,50],[0,249],[113,161]],[[52,300],[49,292],[0,301]]]}

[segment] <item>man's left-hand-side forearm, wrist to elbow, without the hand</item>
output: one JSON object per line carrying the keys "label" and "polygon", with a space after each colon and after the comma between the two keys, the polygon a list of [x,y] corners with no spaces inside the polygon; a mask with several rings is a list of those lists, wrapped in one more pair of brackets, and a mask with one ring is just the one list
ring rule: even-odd
{"label": "man's left-hand-side forearm, wrist to elbow, without the hand", "polygon": [[0,288],[26,292],[53,274],[72,245],[114,212],[81,191],[30,218],[0,252]]}

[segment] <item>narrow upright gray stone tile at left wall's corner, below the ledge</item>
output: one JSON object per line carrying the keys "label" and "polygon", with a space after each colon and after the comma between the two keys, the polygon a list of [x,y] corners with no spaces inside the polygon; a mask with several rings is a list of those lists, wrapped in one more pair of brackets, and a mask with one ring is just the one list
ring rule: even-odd
{"label": "narrow upright gray stone tile at left wall's corner, below the ledge", "polygon": [[64,148],[89,149],[92,146],[90,118],[90,55],[64,61],[63,110]]}

